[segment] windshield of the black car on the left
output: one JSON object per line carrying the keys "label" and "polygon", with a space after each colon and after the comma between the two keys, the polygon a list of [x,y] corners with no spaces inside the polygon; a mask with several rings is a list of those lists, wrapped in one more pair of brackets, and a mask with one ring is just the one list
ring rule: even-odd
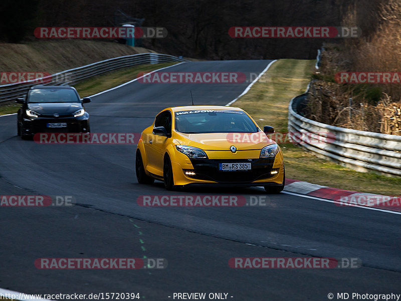
{"label": "windshield of the black car on the left", "polygon": [[72,89],[33,89],[29,93],[30,103],[76,103],[79,97]]}

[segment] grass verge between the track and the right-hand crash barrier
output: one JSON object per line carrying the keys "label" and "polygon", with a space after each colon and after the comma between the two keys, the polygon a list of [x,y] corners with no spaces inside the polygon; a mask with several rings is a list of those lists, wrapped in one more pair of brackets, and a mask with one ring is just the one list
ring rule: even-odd
{"label": "grass verge between the track and the right-hand crash barrier", "polygon": [[[288,104],[305,92],[311,79],[314,60],[279,60],[232,106],[246,110],[255,121],[274,126],[286,133]],[[399,195],[400,178],[357,172],[339,164],[317,158],[294,144],[280,144],[286,177],[345,190],[384,195]]]}

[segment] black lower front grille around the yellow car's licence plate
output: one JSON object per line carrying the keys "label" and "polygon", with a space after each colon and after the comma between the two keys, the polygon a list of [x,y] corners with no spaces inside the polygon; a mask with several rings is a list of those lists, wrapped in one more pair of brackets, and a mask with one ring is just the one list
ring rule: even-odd
{"label": "black lower front grille around the yellow car's licence plate", "polygon": [[[251,163],[249,171],[220,171],[219,163]],[[195,175],[194,179],[209,180],[219,183],[251,183],[258,179],[272,177],[274,158],[266,159],[191,159]]]}

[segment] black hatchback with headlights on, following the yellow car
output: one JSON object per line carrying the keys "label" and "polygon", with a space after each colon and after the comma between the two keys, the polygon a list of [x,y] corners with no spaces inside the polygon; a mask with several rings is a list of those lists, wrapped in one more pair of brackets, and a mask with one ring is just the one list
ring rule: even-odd
{"label": "black hatchback with headlights on, following the yellow car", "polygon": [[89,114],[82,104],[77,90],[65,86],[34,86],[26,98],[18,98],[22,104],[18,110],[17,129],[21,138],[36,133],[89,133]]}

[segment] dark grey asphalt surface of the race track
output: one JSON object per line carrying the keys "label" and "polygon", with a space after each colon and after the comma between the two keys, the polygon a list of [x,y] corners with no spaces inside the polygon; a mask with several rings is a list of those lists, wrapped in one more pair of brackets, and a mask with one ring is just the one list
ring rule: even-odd
{"label": "dark grey asphalt surface of the race track", "polygon": [[[168,72],[243,72],[238,84],[132,82],[85,105],[94,133],[140,133],[163,108],[225,105],[270,61],[191,62]],[[252,73],[252,76],[250,75]],[[235,106],[235,104],[234,104]],[[268,110],[269,108],[266,108]],[[261,125],[263,126],[263,124]],[[71,195],[69,207],[0,207],[0,287],[27,293],[227,292],[232,300],[327,300],[332,292],[400,293],[398,214],[268,195],[266,206],[141,207],[142,195],[265,197],[258,187],[165,191],[140,185],[136,145],[38,144],[0,118],[1,195]],[[285,152],[284,152],[285,156]],[[341,188],[341,187],[339,187]],[[165,269],[37,269],[41,257],[166,258]],[[233,269],[231,257],[357,257],[356,269]],[[170,296],[170,297],[169,297]],[[232,297],[231,297],[232,296]],[[336,297],[334,298],[336,299]]]}

